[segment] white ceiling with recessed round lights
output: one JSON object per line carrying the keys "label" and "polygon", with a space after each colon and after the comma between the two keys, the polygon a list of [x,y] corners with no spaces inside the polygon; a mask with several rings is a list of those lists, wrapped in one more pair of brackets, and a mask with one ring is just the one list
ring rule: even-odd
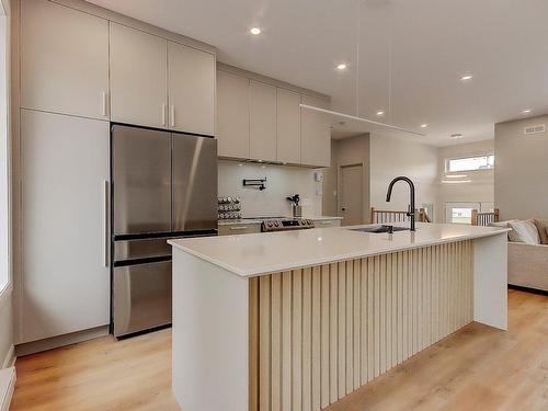
{"label": "white ceiling with recessed round lights", "polygon": [[[548,113],[547,0],[365,0],[359,14],[356,0],[91,2],[216,46],[220,61],[329,94],[333,110],[352,115],[359,38],[358,115],[420,133],[430,124],[426,137],[409,137],[418,141],[489,139],[494,123],[523,109]],[[338,72],[341,61],[349,68]],[[464,73],[473,79],[460,82]],[[465,137],[449,140],[456,133]]]}

